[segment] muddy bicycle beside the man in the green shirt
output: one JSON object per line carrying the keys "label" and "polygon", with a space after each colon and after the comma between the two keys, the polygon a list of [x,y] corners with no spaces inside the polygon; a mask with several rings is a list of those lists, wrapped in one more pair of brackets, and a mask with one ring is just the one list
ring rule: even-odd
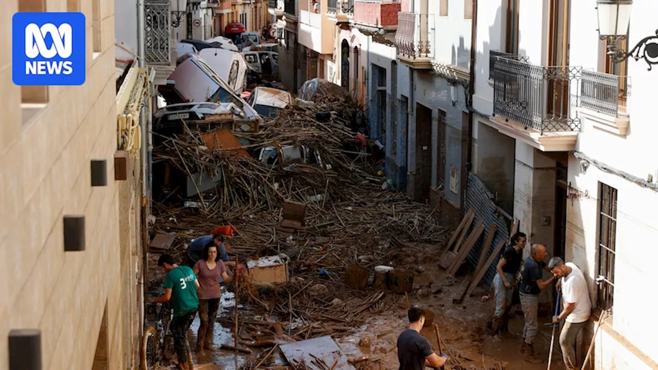
{"label": "muddy bicycle beside the man in the green shirt", "polygon": [[[170,361],[175,355],[174,336],[171,330],[174,311],[168,303],[160,305],[160,311],[157,311],[157,305],[147,306],[147,311],[149,309],[156,311],[154,316],[157,319],[155,325],[144,330],[141,340],[141,370],[158,369],[161,361]],[[168,315],[165,315],[167,311]]]}

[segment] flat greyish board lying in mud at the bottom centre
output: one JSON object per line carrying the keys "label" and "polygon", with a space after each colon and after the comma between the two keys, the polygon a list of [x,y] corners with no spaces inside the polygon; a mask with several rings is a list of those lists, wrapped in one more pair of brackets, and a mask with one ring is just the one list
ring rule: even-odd
{"label": "flat greyish board lying in mud at the bottom centre", "polygon": [[311,361],[315,360],[313,358],[315,356],[324,360],[330,368],[336,363],[336,366],[333,367],[334,370],[355,370],[347,361],[347,357],[340,351],[336,342],[328,335],[301,340],[300,342],[282,344],[279,348],[281,348],[281,352],[283,352],[284,357],[286,357],[289,363],[304,359],[309,369],[320,369],[311,364]]}

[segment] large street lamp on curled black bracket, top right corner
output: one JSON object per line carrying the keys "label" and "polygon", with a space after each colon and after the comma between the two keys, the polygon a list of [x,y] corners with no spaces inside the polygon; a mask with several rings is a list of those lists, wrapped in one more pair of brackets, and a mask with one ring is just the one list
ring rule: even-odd
{"label": "large street lamp on curled black bracket, top right corner", "polygon": [[630,23],[630,9],[633,0],[596,0],[599,20],[599,38],[607,41],[607,55],[615,63],[632,57],[636,61],[644,59],[651,70],[658,65],[658,30],[638,42],[628,53],[617,47],[620,40],[626,39]]}

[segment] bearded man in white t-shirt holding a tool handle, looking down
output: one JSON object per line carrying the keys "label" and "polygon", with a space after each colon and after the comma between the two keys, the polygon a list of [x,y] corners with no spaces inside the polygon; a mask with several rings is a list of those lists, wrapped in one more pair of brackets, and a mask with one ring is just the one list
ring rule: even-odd
{"label": "bearded man in white t-shirt holding a tool handle, looking down", "polygon": [[564,308],[559,315],[553,316],[553,323],[566,321],[560,332],[562,356],[567,370],[577,370],[580,366],[576,359],[576,336],[590,318],[590,292],[582,271],[574,263],[565,263],[560,257],[553,257],[548,262],[548,268],[555,277],[561,278],[556,288],[562,290]]}

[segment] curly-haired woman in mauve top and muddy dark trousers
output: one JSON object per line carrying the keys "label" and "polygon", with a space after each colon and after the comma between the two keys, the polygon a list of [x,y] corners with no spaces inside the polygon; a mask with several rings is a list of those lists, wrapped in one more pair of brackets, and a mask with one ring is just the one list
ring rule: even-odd
{"label": "curly-haired woman in mauve top and muddy dark trousers", "polygon": [[227,284],[232,282],[234,274],[228,275],[228,269],[224,261],[217,253],[217,246],[213,240],[208,242],[203,251],[201,259],[194,264],[193,271],[199,279],[199,332],[197,333],[197,352],[213,347],[213,334],[215,332],[215,317],[219,309],[219,298],[222,290],[219,286],[219,277]]}

